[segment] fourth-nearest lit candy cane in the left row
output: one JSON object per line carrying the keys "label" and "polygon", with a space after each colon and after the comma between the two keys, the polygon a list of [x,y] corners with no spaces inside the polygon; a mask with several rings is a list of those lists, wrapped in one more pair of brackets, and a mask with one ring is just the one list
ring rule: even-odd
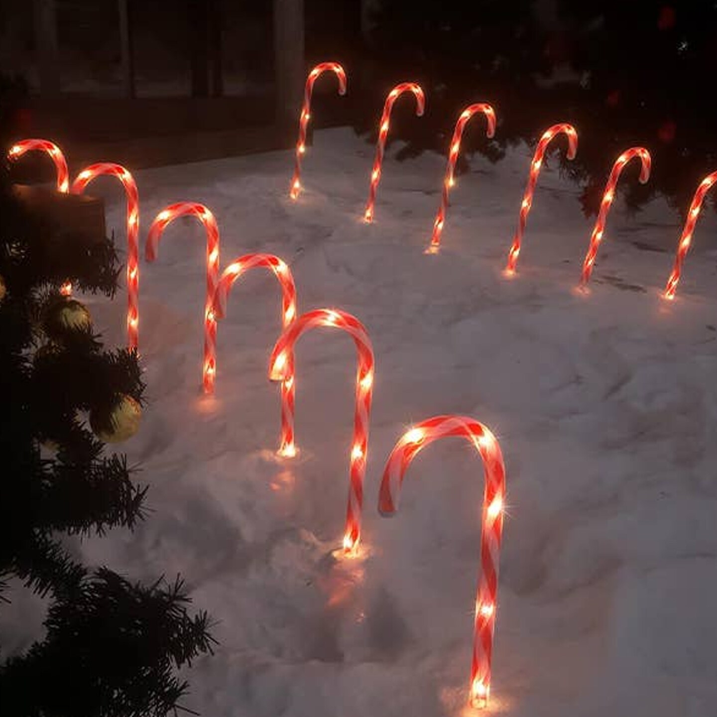
{"label": "fourth-nearest lit candy cane in the left row", "polygon": [[196,201],[179,201],[162,209],[154,218],[145,248],[145,258],[153,262],[159,250],[159,237],[170,222],[177,217],[196,217],[206,232],[206,300],[204,301],[204,362],[201,383],[205,394],[214,393],[214,377],[217,371],[217,317],[214,315],[214,292],[219,279],[219,227],[214,214]]}

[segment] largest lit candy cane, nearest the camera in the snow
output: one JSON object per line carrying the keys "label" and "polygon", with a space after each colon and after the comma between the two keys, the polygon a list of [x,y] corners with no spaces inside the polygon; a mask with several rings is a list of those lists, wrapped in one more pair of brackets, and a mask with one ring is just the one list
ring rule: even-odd
{"label": "largest lit candy cane, nearest the camera in the snow", "polygon": [[379,511],[382,516],[395,513],[404,473],[411,461],[429,443],[448,436],[466,438],[483,458],[485,493],[480,533],[480,579],[475,599],[473,666],[470,673],[470,704],[482,708],[488,704],[490,693],[490,663],[498,605],[498,558],[505,500],[505,466],[495,436],[482,423],[467,416],[436,416],[417,424],[400,438],[386,462],[379,492]]}

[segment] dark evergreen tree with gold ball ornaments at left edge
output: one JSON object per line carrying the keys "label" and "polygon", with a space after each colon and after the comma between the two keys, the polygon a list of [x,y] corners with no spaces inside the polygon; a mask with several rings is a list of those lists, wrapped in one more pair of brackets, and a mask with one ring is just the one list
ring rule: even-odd
{"label": "dark evergreen tree with gold ball ornaments at left edge", "polygon": [[[2,80],[0,146],[16,139],[17,97]],[[0,653],[0,714],[163,717],[187,688],[177,668],[211,650],[206,614],[189,614],[179,578],[134,584],[62,542],[143,518],[146,488],[98,437],[136,429],[138,357],[103,350],[87,310],[60,293],[70,279],[111,297],[115,249],[19,201],[0,164],[0,609],[13,580],[47,602],[42,639]]]}

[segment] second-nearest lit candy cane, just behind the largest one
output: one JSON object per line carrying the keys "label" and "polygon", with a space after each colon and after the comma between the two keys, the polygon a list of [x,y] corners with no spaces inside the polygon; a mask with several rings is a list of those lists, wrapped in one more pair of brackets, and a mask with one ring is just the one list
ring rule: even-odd
{"label": "second-nearest lit candy cane, just behind the largest one", "polygon": [[317,326],[335,326],[351,334],[358,352],[356,374],[356,409],[353,418],[350,487],[346,509],[346,530],[343,533],[345,554],[356,554],[361,539],[361,507],[364,503],[364,474],[369,442],[371,393],[374,385],[374,350],[366,328],[357,318],[338,309],[317,309],[301,315],[278,338],[269,361],[270,381],[285,381],[293,369],[291,356],[294,345],[305,331]]}

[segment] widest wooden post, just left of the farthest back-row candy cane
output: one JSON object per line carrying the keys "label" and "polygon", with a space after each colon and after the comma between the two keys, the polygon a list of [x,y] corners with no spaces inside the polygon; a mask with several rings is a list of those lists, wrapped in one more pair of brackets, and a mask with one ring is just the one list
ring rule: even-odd
{"label": "widest wooden post, just left of the farthest back-row candy cane", "polygon": [[277,124],[293,128],[306,72],[303,0],[274,0],[274,58]]}

